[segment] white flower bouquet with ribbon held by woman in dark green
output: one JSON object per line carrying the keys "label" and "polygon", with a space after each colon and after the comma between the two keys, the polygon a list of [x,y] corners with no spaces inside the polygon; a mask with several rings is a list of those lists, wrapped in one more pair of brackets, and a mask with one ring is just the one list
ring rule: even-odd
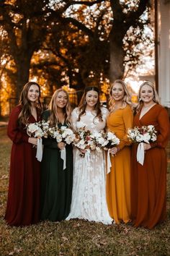
{"label": "white flower bouquet with ribbon held by woman in dark green", "polygon": [[[73,140],[75,140],[75,134],[73,131],[65,126],[62,126],[59,128],[56,127],[50,127],[48,129],[48,135],[50,137],[53,137],[58,143],[59,142],[65,142],[66,144],[71,144]],[[63,159],[63,170],[66,169],[66,148],[61,150],[61,159]]]}

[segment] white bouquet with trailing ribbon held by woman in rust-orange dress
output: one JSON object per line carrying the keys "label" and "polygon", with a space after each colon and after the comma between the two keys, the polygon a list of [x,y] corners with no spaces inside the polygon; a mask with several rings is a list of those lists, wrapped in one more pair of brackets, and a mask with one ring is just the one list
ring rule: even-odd
{"label": "white bouquet with trailing ribbon held by woman in rust-orange dress", "polygon": [[156,141],[156,129],[153,125],[134,127],[128,129],[128,137],[132,142],[138,142],[137,161],[143,166],[145,152],[143,143],[150,143]]}

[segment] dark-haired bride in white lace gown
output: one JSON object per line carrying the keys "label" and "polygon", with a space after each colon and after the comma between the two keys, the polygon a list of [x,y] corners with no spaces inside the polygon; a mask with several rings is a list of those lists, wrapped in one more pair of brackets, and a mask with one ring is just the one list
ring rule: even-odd
{"label": "dark-haired bride in white lace gown", "polygon": [[[86,130],[100,132],[106,124],[107,108],[100,108],[99,90],[97,87],[86,88],[78,108],[72,112],[73,128],[85,127]],[[111,224],[105,191],[105,155],[104,152],[73,150],[73,192],[71,218]],[[81,153],[85,153],[84,158]]]}

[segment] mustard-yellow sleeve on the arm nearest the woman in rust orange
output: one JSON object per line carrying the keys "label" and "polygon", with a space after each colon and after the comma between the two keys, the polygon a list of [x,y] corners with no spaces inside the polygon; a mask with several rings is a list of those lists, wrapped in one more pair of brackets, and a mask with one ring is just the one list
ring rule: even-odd
{"label": "mustard-yellow sleeve on the arm nearest the woman in rust orange", "polygon": [[125,108],[123,110],[122,119],[123,119],[123,122],[125,125],[125,136],[122,138],[122,140],[120,141],[120,144],[118,145],[118,147],[120,149],[131,144],[131,142],[127,136],[128,129],[133,127],[133,111],[130,107]]}

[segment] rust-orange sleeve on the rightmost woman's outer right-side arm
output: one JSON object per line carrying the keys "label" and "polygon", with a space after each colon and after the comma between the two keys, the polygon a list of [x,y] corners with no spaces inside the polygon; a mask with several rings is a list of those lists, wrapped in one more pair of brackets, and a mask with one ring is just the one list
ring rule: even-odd
{"label": "rust-orange sleeve on the rightmost woman's outer right-side arm", "polygon": [[165,108],[162,108],[158,114],[158,135],[156,142],[152,142],[151,148],[166,148],[169,140],[169,116]]}

